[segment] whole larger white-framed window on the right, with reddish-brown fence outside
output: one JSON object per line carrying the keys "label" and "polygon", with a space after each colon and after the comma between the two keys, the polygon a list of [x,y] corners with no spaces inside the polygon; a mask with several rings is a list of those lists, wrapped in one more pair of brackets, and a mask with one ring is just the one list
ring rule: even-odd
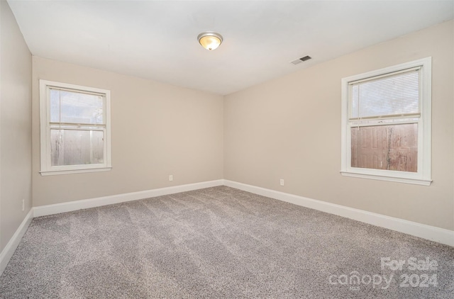
{"label": "whole larger white-framed window on the right, with reddish-brown fence outside", "polygon": [[431,184],[431,57],[342,79],[341,174]]}

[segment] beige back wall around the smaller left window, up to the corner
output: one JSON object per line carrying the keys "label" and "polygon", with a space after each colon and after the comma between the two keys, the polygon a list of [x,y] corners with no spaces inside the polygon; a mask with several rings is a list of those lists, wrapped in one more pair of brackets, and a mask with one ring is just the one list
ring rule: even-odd
{"label": "beige back wall around the smaller left window, up to the corner", "polygon": [[[111,171],[39,174],[39,79],[111,91]],[[222,162],[222,96],[33,57],[34,206],[222,179]]]}

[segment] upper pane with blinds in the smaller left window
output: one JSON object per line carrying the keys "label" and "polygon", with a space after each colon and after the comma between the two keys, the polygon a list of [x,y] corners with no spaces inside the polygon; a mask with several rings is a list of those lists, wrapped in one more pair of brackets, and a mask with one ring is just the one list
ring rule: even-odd
{"label": "upper pane with blinds in the smaller left window", "polygon": [[51,123],[104,124],[103,96],[50,89]]}

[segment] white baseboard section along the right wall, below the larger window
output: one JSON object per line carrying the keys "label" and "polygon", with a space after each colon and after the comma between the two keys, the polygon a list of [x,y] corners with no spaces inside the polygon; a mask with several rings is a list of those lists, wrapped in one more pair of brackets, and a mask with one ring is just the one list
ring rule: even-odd
{"label": "white baseboard section along the right wall, below the larger window", "polygon": [[389,217],[387,215],[381,215],[377,213],[367,212],[365,210],[358,210],[355,208],[348,208],[343,205],[336,205],[334,203],[326,203],[325,201],[317,201],[311,198],[305,198],[302,196],[296,196],[289,193],[274,191],[266,188],[251,186],[247,184],[241,184],[236,181],[224,180],[224,185],[237,188],[243,191],[248,191],[261,196],[267,196],[275,198],[279,201],[287,201],[288,203],[294,203],[296,205],[302,205],[306,208],[314,210],[320,210],[322,212],[339,215],[345,218],[358,220],[371,225],[384,227],[389,230],[395,230],[397,232],[404,232],[408,235],[421,237],[434,242],[446,244],[454,247],[454,231],[445,230],[440,227],[434,227],[431,225],[423,225],[418,222],[412,222],[399,218]]}

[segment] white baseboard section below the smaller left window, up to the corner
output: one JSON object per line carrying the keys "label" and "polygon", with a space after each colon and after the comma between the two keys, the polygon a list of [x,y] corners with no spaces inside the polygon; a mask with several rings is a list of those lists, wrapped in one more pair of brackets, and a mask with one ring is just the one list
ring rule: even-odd
{"label": "white baseboard section below the smaller left window, up to the corner", "polygon": [[101,205],[111,205],[114,203],[124,203],[126,201],[137,201],[143,198],[150,198],[155,196],[163,196],[167,194],[180,193],[185,191],[192,191],[201,188],[209,188],[214,186],[222,186],[223,179],[216,181],[204,181],[201,183],[187,184],[180,186],[172,186],[166,188],[158,188],[147,191],[138,191],[131,193],[117,194],[113,196],[104,196],[98,198],[82,199],[80,201],[70,201],[67,203],[56,203],[54,205],[40,205],[33,208],[34,217],[45,215],[53,215],[58,213],[71,212],[73,210],[81,210],[87,208],[95,208]]}

